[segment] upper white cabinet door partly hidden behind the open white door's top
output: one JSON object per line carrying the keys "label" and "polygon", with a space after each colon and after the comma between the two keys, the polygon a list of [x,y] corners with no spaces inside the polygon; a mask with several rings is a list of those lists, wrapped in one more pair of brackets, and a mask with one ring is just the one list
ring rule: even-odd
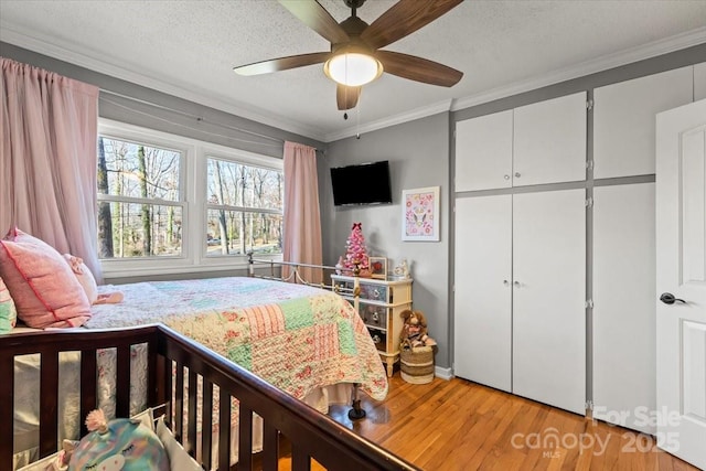
{"label": "upper white cabinet door partly hidden behind the open white door's top", "polygon": [[593,178],[654,173],[654,122],[660,111],[692,103],[694,67],[596,88]]}

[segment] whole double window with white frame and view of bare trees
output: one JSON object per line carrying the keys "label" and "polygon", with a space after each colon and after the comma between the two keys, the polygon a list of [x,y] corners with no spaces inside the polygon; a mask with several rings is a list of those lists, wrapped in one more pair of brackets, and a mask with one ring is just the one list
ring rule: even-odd
{"label": "whole double window with white frame and view of bare trees", "polygon": [[110,276],[281,255],[281,159],[101,119],[97,172],[98,255]]}

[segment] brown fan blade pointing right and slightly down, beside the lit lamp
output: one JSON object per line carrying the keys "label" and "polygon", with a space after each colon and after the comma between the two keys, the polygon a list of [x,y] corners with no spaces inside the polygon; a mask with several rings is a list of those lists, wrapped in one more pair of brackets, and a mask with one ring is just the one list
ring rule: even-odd
{"label": "brown fan blade pointing right and slightly down, beside the lit lamp", "polygon": [[383,69],[398,77],[425,84],[451,87],[459,83],[463,73],[438,62],[417,57],[416,55],[402,54],[393,51],[377,51],[377,60],[383,64]]}

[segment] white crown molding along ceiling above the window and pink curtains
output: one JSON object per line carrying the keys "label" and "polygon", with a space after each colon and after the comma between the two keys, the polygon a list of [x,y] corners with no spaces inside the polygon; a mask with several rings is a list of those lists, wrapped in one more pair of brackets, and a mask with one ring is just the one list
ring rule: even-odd
{"label": "white crown molding along ceiling above the window and pink curtains", "polygon": [[282,119],[281,116],[263,114],[261,110],[257,111],[250,109],[246,105],[236,106],[227,104],[224,103],[222,98],[212,95],[194,93],[162,79],[128,71],[124,67],[119,67],[105,61],[92,57],[87,51],[71,51],[67,47],[56,43],[55,40],[41,38],[35,32],[30,35],[17,31],[12,25],[6,23],[2,20],[0,20],[0,41],[50,56],[52,58],[71,63],[79,67],[85,67],[93,72],[109,75],[115,78],[130,82],[147,88],[152,88],[154,90],[173,95],[190,101],[194,101],[210,108],[218,109],[221,111],[229,113],[242,118],[250,119],[266,126],[272,126],[284,131],[293,132],[318,141],[322,141],[324,137],[318,129],[301,126],[300,122]]}

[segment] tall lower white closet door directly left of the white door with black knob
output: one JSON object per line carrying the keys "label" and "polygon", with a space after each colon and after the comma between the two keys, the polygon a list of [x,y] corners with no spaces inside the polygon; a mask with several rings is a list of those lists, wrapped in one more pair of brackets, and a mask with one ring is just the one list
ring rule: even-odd
{"label": "tall lower white closet door directly left of the white door with black knob", "polygon": [[654,433],[654,183],[599,186],[593,201],[593,417]]}

